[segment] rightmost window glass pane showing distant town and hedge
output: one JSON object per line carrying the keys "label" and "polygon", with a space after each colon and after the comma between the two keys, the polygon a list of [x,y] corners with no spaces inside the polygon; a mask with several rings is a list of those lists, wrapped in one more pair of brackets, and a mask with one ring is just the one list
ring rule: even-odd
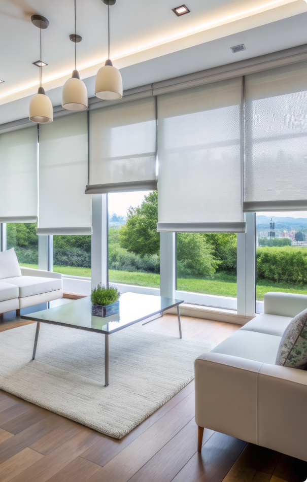
{"label": "rightmost window glass pane showing distant town and hedge", "polygon": [[307,294],[307,212],[256,213],[256,311],[268,291]]}

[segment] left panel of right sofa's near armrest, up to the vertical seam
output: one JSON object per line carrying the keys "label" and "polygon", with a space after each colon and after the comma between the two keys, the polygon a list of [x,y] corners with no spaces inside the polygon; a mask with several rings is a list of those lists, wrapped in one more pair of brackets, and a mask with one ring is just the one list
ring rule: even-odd
{"label": "left panel of right sofa's near armrest, up to the vertical seam", "polygon": [[257,382],[262,363],[220,353],[195,360],[199,427],[257,443]]}

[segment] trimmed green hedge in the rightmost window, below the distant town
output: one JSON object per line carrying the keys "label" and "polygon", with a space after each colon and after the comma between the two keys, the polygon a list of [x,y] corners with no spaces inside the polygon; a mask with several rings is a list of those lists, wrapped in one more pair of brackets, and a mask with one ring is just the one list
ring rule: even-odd
{"label": "trimmed green hedge in the rightmost window, below the distant town", "polygon": [[257,277],[275,282],[307,283],[307,248],[258,248]]}

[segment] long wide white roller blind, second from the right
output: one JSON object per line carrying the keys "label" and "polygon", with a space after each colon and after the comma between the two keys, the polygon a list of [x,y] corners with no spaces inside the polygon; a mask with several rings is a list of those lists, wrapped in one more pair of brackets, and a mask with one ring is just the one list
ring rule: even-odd
{"label": "long wide white roller blind, second from the right", "polygon": [[158,97],[158,231],[245,232],[242,79]]}

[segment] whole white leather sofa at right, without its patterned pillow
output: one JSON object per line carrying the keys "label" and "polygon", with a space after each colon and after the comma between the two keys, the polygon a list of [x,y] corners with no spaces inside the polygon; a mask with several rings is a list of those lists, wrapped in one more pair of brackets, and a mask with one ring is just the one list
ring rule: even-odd
{"label": "whole white leather sofa at right, without its patterned pillow", "polygon": [[195,360],[198,451],[203,428],[307,461],[307,371],[275,365],[307,296],[264,295],[264,313]]}

